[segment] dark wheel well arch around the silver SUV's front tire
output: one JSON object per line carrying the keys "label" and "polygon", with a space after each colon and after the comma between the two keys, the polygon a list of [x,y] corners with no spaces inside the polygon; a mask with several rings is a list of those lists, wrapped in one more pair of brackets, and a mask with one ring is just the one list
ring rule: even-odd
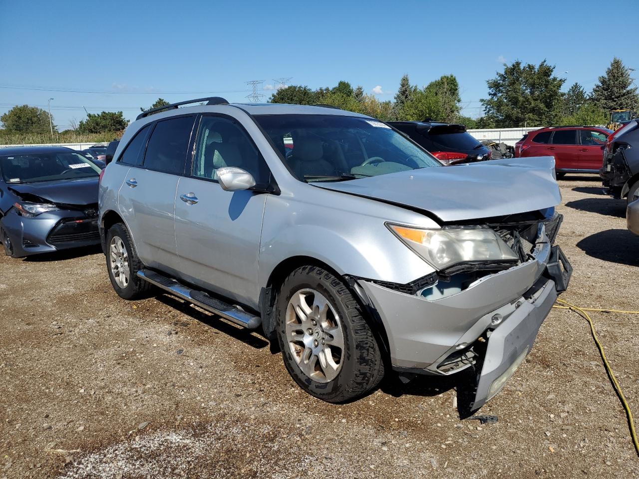
{"label": "dark wheel well arch around the silver SUV's front tire", "polygon": [[[335,271],[334,268],[331,268],[325,262],[319,261],[319,259],[311,256],[293,256],[285,259],[275,266],[268,278],[268,282],[266,282],[266,287],[263,288],[260,293],[259,304],[262,316],[262,326],[266,338],[270,341],[272,351],[277,348],[277,337],[275,337],[275,317],[273,316],[275,296],[277,296],[276,292],[282,282],[284,282],[284,279],[286,279],[290,273],[300,266],[318,266],[319,268],[330,271],[330,273],[332,273],[332,275],[336,278],[341,278],[341,280],[344,281],[344,284],[348,287],[348,289],[350,289],[353,297],[358,301],[358,303],[360,303],[360,307],[364,312],[364,317],[371,323],[371,326],[373,326],[373,334],[380,343],[380,348],[385,354],[385,359],[390,359],[389,338],[386,333],[386,328],[384,327],[379,314],[371,308],[368,298],[362,298],[360,292],[353,287],[354,285],[351,282],[352,278],[344,277],[344,275]],[[361,290],[361,288],[358,289]]]}

